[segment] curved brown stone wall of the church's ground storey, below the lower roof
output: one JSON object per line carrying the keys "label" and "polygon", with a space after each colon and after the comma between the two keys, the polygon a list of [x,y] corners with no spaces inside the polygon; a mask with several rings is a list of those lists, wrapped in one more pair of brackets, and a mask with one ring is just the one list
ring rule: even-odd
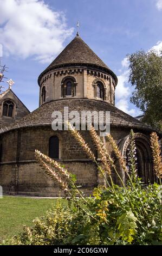
{"label": "curved brown stone wall of the church's ground storey, below the lower roof", "polygon": [[[96,150],[87,131],[81,131],[86,143],[96,155]],[[129,129],[111,127],[111,134],[116,143],[129,134]],[[95,164],[87,158],[85,151],[72,137],[69,131],[53,131],[50,126],[30,127],[8,131],[1,135],[2,162],[0,163],[0,185],[4,193],[28,194],[32,196],[59,196],[60,188],[56,182],[44,172],[35,161],[35,149],[48,155],[50,136],[60,139],[60,159],[58,160],[70,172],[76,174],[77,184],[88,195],[98,184],[104,184],[98,176]],[[112,148],[106,140],[106,148],[112,153]],[[98,158],[100,155],[98,154]],[[118,166],[118,163],[117,163]],[[119,166],[118,166],[119,168]],[[119,169],[122,174],[122,170]],[[116,183],[114,173],[113,179]],[[63,195],[63,192],[61,192]]]}

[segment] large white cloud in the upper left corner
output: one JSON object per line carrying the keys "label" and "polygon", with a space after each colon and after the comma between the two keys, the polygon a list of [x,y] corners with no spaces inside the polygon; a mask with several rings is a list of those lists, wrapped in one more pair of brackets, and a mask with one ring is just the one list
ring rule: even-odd
{"label": "large white cloud in the upper left corner", "polygon": [[8,56],[50,62],[73,33],[62,12],[39,0],[0,0],[0,43]]}

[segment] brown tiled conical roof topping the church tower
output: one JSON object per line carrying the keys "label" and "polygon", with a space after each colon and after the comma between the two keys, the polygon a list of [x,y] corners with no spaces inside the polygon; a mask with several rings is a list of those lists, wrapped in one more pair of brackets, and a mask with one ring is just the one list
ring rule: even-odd
{"label": "brown tiled conical roof topping the church tower", "polygon": [[90,49],[85,41],[79,35],[64,48],[64,50],[57,56],[54,61],[45,69],[38,78],[40,81],[42,75],[49,70],[61,68],[61,66],[69,66],[70,64],[85,64],[98,66],[111,74],[117,82],[117,77],[111,69]]}

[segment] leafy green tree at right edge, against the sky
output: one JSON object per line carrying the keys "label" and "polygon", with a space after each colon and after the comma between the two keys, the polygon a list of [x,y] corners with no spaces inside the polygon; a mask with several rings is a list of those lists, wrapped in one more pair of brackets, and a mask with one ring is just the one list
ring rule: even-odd
{"label": "leafy green tree at right edge, against the sky", "polygon": [[128,54],[129,82],[135,87],[131,102],[144,112],[143,121],[161,127],[162,58],[154,51]]}

